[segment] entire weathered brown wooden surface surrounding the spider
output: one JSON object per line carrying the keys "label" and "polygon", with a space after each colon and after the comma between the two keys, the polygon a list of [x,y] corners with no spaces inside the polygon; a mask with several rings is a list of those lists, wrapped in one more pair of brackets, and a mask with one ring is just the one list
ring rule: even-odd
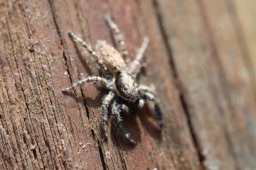
{"label": "entire weathered brown wooden surface surrounding the spider", "polygon": [[[255,169],[255,2],[0,0],[0,169]],[[248,10],[247,10],[248,9]],[[103,88],[61,89],[100,75],[68,37],[117,43],[134,58],[151,42],[140,84],[154,85],[165,128],[147,105],[124,117],[137,145],[100,137]]]}

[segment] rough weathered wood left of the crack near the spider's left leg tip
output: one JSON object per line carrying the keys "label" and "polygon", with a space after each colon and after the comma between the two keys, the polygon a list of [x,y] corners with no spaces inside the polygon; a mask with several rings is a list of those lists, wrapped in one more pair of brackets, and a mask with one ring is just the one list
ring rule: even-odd
{"label": "rough weathered wood left of the crack near the spider's left leg tip", "polygon": [[[3,3],[1,99],[5,107],[1,115],[6,122],[2,126],[17,153],[9,157],[14,157],[18,169],[73,169],[76,165],[100,169],[98,150],[85,126],[89,124],[85,106],[70,98],[58,100],[64,99],[60,89],[69,80],[63,79],[66,50],[49,2]],[[92,145],[83,148],[87,143]],[[11,167],[8,159],[5,164]]]}

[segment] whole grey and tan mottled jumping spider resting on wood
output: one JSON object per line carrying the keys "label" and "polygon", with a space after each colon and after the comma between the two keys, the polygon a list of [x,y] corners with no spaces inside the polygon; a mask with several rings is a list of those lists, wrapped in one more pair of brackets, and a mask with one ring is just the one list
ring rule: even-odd
{"label": "whole grey and tan mottled jumping spider resting on wood", "polygon": [[[162,113],[159,106],[159,100],[156,98],[153,90],[149,86],[144,86],[136,81],[137,75],[142,68],[142,62],[144,60],[144,53],[146,52],[146,47],[149,44],[149,38],[145,37],[142,42],[142,47],[135,59],[130,62],[129,52],[127,51],[126,44],[122,38],[120,30],[110,16],[105,17],[108,26],[117,36],[119,42],[119,47],[121,52],[118,52],[114,47],[107,44],[105,40],[98,40],[95,46],[95,50],[87,44],[87,42],[78,38],[71,30],[68,31],[70,38],[73,41],[78,41],[83,47],[90,53],[92,59],[94,58],[97,65],[100,67],[102,74],[107,77],[87,77],[78,81],[68,88],[62,91],[68,91],[73,89],[73,87],[85,84],[87,82],[97,82],[105,86],[110,92],[105,96],[102,101],[101,106],[101,130],[103,139],[107,140],[107,130],[109,115],[112,115],[112,121],[117,126],[119,134],[132,144],[136,144],[136,141],[132,139],[131,135],[124,128],[122,123],[121,113],[130,114],[131,110],[134,108],[141,109],[144,106],[145,101],[152,101],[154,103],[155,117],[159,127],[163,128]],[[109,111],[111,111],[109,113]]]}

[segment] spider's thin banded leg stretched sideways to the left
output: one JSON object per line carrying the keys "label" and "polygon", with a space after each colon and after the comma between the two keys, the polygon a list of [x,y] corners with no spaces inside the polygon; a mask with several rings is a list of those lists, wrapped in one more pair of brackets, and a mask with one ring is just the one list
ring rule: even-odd
{"label": "spider's thin banded leg stretched sideways to the left", "polygon": [[62,89],[63,92],[65,91],[68,91],[70,89],[73,89],[75,86],[78,86],[78,85],[82,85],[82,84],[85,84],[87,82],[99,82],[100,84],[104,85],[104,86],[110,86],[109,82],[107,81],[107,79],[104,79],[102,77],[87,77],[86,79],[82,79],[78,82],[76,82],[75,84],[73,84],[72,86],[68,87],[68,88],[65,88],[65,89]]}

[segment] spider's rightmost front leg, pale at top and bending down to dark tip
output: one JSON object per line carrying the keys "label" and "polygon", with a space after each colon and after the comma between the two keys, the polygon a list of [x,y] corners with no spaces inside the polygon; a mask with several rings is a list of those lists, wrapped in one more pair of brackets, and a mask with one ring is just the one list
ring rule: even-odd
{"label": "spider's rightmost front leg, pale at top and bending down to dark tip", "polygon": [[152,94],[151,92],[148,92],[148,91],[144,91],[144,94],[142,94],[142,98],[146,101],[154,102],[156,121],[159,124],[159,127],[162,129],[164,127],[163,114],[161,112],[161,108],[160,108],[158,99],[156,98],[156,96],[154,94]]}

